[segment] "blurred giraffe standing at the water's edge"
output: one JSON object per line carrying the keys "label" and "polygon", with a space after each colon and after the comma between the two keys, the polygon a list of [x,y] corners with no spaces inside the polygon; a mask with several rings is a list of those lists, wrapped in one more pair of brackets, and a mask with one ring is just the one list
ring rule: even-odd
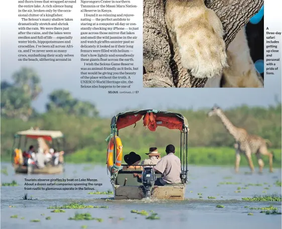
{"label": "blurred giraffe standing at the water's edge", "polygon": [[239,171],[241,155],[246,157],[251,171],[254,172],[254,165],[251,158],[252,154],[256,155],[259,165],[259,172],[262,172],[264,166],[261,155],[269,157],[269,172],[273,172],[273,152],[269,152],[267,149],[267,144],[268,146],[271,146],[269,140],[263,139],[256,135],[249,135],[245,129],[235,127],[225,116],[222,109],[216,105],[213,106],[213,108],[208,112],[208,116],[218,116],[229,134],[231,134],[236,141],[234,144],[234,148],[236,149],[235,172]]}

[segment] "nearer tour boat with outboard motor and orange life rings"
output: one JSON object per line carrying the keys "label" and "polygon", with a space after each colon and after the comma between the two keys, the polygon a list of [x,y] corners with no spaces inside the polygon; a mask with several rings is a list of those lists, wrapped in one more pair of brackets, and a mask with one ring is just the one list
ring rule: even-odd
{"label": "nearer tour boat with outboard motor and orange life rings", "polygon": [[[143,118],[143,126],[150,131],[156,128],[168,128],[180,132],[180,161],[181,183],[164,186],[154,185],[155,180],[161,174],[155,173],[153,167],[143,166],[143,170],[122,170],[123,145],[119,136],[120,130],[136,125]],[[187,119],[180,113],[144,109],[118,113],[111,121],[111,134],[107,149],[107,167],[110,172],[110,182],[114,189],[114,199],[170,199],[184,200],[187,184],[187,139],[189,126]],[[148,166],[148,165],[147,165]]]}

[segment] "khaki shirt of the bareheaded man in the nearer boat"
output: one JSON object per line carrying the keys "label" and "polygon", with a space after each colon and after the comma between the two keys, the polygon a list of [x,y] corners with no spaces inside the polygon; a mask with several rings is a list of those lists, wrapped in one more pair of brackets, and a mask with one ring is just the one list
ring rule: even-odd
{"label": "khaki shirt of the bareheaded man in the nearer boat", "polygon": [[154,168],[162,173],[162,176],[160,178],[160,182],[162,184],[181,183],[181,162],[180,159],[173,153],[167,154],[166,156],[161,158]]}

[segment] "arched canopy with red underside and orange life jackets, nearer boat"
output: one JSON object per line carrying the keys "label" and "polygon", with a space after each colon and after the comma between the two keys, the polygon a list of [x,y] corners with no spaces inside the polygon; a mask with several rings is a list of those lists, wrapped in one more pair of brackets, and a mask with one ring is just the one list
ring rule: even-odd
{"label": "arched canopy with red underside and orange life jackets, nearer boat", "polygon": [[157,127],[166,127],[171,130],[186,132],[188,122],[180,113],[170,111],[160,111],[154,109],[143,109],[136,111],[126,111],[118,113],[112,118],[111,127],[117,130],[136,125],[143,117],[143,126],[150,131],[155,131]]}

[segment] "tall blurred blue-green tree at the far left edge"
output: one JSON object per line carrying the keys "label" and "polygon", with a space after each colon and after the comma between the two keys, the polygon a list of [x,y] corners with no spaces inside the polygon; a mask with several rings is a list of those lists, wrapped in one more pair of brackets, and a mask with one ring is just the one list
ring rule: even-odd
{"label": "tall blurred blue-green tree at the far left edge", "polygon": [[40,77],[32,68],[23,67],[12,79],[13,83],[1,82],[1,115],[27,121],[34,111],[31,103],[42,91]]}

